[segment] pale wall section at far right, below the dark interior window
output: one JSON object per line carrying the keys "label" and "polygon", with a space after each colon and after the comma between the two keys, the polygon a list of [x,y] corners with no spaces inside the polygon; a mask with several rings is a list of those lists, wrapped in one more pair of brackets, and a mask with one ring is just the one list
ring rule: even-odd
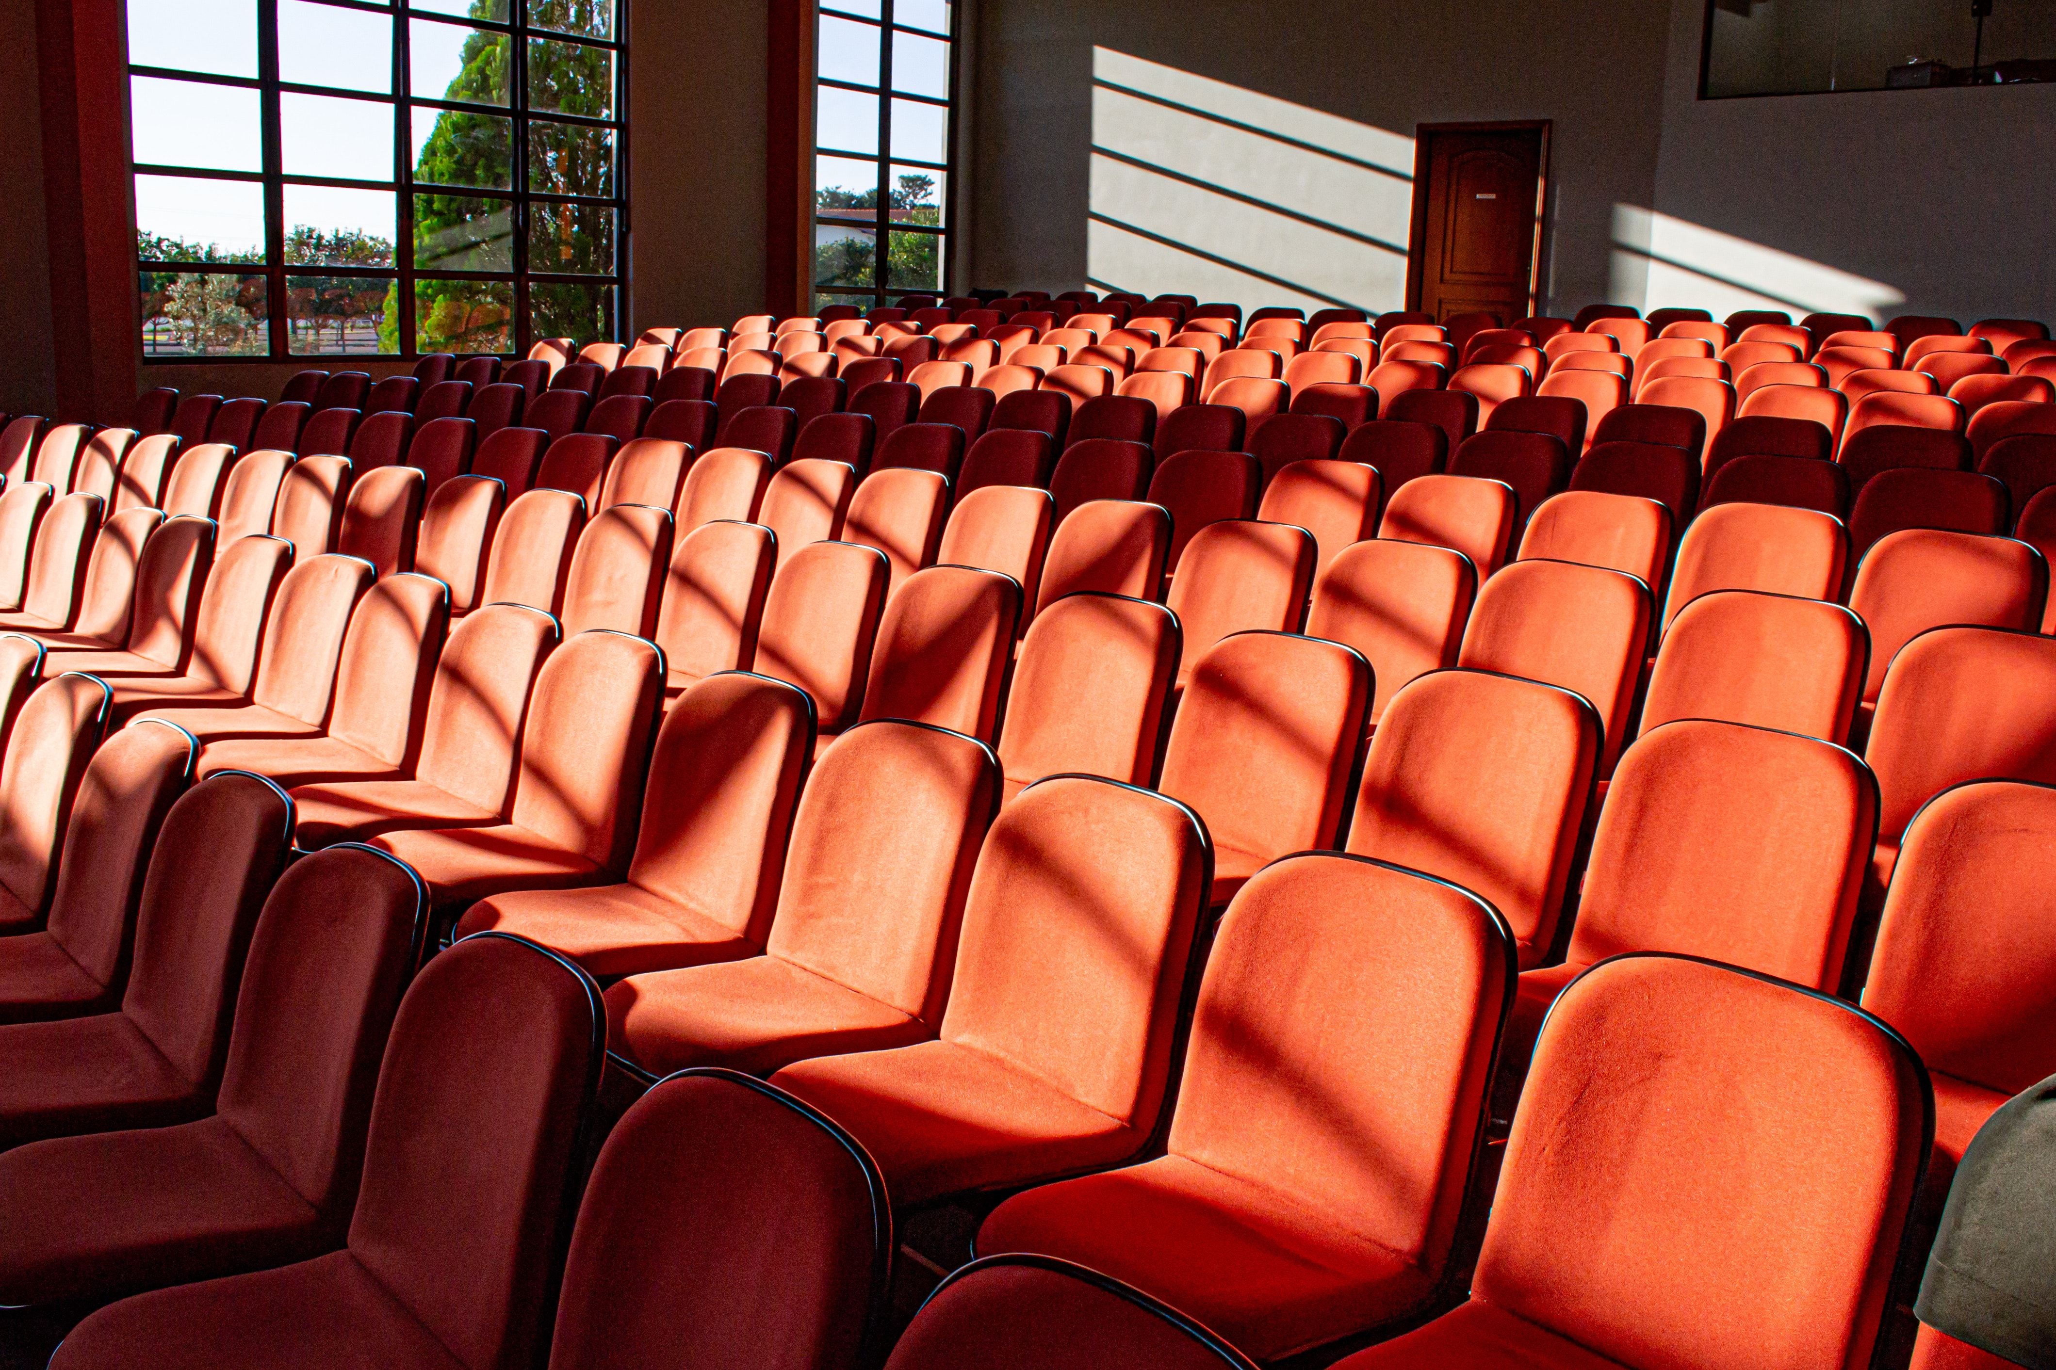
{"label": "pale wall section at far right, below the dark interior window", "polygon": [[[1791,300],[1766,308],[2056,322],[2056,84],[1700,101],[1702,14],[1672,0],[1645,205],[1667,216],[1676,261]],[[1622,294],[1643,304],[1632,281]],[[1733,298],[1659,267],[1647,302],[1719,314]]]}

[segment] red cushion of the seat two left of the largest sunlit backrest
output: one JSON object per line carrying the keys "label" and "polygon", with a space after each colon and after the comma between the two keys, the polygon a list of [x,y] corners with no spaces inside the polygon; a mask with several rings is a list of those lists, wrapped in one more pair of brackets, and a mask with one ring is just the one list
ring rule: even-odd
{"label": "red cushion of the seat two left of the largest sunlit backrest", "polygon": [[954,1041],[804,1060],[773,1082],[849,1128],[894,1204],[1118,1165],[1145,1142],[1121,1119]]}

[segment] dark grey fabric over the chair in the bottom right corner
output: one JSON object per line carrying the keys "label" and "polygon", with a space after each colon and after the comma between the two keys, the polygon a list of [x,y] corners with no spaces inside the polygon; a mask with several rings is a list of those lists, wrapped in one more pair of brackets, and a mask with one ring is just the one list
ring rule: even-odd
{"label": "dark grey fabric over the chair in the bottom right corner", "polygon": [[2056,1370],[2056,1076],[1992,1113],[1963,1152],[1914,1312],[2027,1370]]}

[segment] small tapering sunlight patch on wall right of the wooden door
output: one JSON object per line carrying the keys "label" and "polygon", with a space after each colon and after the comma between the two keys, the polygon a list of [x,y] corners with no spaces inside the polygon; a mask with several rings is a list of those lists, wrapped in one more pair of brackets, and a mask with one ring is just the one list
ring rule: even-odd
{"label": "small tapering sunlight patch on wall right of the wooden door", "polygon": [[1826,263],[1780,253],[1641,205],[1614,205],[1614,304],[1879,316],[1904,292]]}

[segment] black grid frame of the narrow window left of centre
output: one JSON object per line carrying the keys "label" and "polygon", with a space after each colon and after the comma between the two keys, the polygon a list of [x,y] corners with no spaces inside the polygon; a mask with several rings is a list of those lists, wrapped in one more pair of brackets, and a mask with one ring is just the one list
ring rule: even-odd
{"label": "black grid frame of the narrow window left of centre", "polygon": [[[958,166],[958,160],[960,160],[958,158],[958,97],[960,97],[960,82],[962,82],[962,70],[964,70],[964,58],[962,58],[964,41],[962,41],[962,33],[964,33],[964,8],[966,8],[968,0],[952,0],[950,2],[950,31],[948,33],[935,33],[933,29],[921,29],[921,27],[915,27],[915,25],[894,23],[892,12],[894,12],[896,0],[878,0],[878,4],[880,4],[878,18],[870,18],[866,14],[853,14],[853,12],[841,10],[841,8],[829,8],[831,4],[835,4],[835,0],[824,0],[822,4],[814,6],[814,25],[816,25],[814,88],[820,90],[822,86],[827,86],[831,90],[851,90],[855,94],[874,94],[874,97],[878,97],[878,154],[872,156],[872,154],[864,154],[864,152],[845,152],[845,150],[839,150],[839,148],[827,148],[827,146],[822,146],[820,144],[820,119],[818,119],[818,115],[814,119],[814,127],[808,129],[808,136],[812,138],[810,146],[814,148],[816,162],[818,162],[818,158],[824,158],[824,156],[837,158],[837,160],[843,160],[843,162],[864,162],[864,160],[870,160],[876,166],[876,170],[878,170],[878,210],[876,210],[874,218],[868,224],[864,220],[853,220],[853,218],[824,218],[822,212],[820,212],[820,191],[818,191],[818,185],[816,185],[816,189],[808,191],[808,203],[812,205],[812,212],[808,216],[808,230],[810,230],[810,249],[808,249],[808,275],[810,275],[810,281],[808,283],[812,286],[810,300],[812,300],[814,308],[818,310],[822,304],[831,304],[831,302],[847,304],[847,302],[851,302],[851,300],[855,300],[859,296],[870,296],[872,298],[872,308],[886,306],[892,300],[898,300],[898,298],[905,298],[905,296],[929,296],[929,294],[933,294],[938,298],[948,296],[948,294],[952,294],[952,283],[954,283],[952,281],[954,271],[952,271],[950,242],[952,242],[952,238],[954,238],[954,234],[958,230],[956,228],[958,226],[958,175],[956,175],[956,166]],[[876,86],[864,86],[864,84],[849,82],[849,80],[833,80],[833,78],[827,78],[827,76],[820,74],[818,25],[820,25],[820,21],[827,21],[827,18],[847,21],[847,23],[855,23],[855,25],[868,25],[868,27],[874,27],[874,29],[880,31],[880,39],[878,39],[878,84]],[[946,97],[935,99],[935,97],[929,97],[929,94],[911,94],[907,90],[894,90],[892,88],[892,43],[890,43],[890,37],[894,33],[907,33],[911,37],[921,37],[921,39],[931,39],[931,41],[944,41],[944,43],[950,45],[950,78],[948,78],[948,94]],[[942,134],[942,138],[944,138],[944,148],[942,148],[944,158],[942,158],[942,162],[923,162],[919,158],[892,156],[892,101],[909,101],[909,103],[915,103],[915,105],[929,105],[929,107],[944,109],[944,134]],[[892,168],[894,166],[915,168],[915,170],[931,170],[931,173],[935,173],[942,179],[942,195],[938,199],[938,205],[942,210],[942,224],[935,224],[935,226],[925,226],[925,224],[896,224],[892,220],[892,195],[890,195],[890,191],[892,191]],[[818,175],[816,175],[816,183],[818,183]],[[874,244],[872,244],[872,283],[868,288],[866,286],[824,283],[824,281],[816,279],[816,273],[812,271],[812,263],[814,263],[812,242],[818,240],[820,228],[855,228],[859,232],[868,230],[868,232],[876,234],[874,236]],[[935,238],[935,267],[938,267],[938,277],[940,279],[938,279],[938,283],[933,288],[927,288],[927,286],[892,286],[886,279],[888,277],[890,251],[892,251],[892,234],[923,234],[923,236]],[[835,296],[835,300],[829,300],[829,296]]]}

